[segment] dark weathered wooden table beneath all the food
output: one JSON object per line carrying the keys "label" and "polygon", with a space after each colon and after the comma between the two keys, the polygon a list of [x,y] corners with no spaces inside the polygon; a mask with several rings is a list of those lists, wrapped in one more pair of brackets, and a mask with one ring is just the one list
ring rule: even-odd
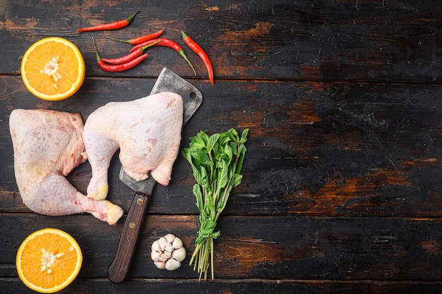
{"label": "dark weathered wooden table beneath all the food", "polygon": [[[113,32],[78,27],[126,18]],[[149,49],[124,73],[97,67],[128,39],[165,29],[183,45]],[[213,61],[215,86],[181,40],[186,31]],[[61,102],[33,97],[20,61],[38,39],[59,36],[82,52],[86,78]],[[16,274],[18,246],[56,227],[80,244],[80,274],[62,293],[442,293],[442,5],[439,1],[13,1],[0,4],[0,292],[32,293]],[[183,133],[249,128],[244,180],[218,223],[215,280],[189,266],[198,229],[193,176],[180,156],[157,185],[126,281],[107,279],[125,216],[42,216],[20,198],[8,117],[13,109],[78,112],[148,94],[163,67],[201,90]],[[109,170],[108,200],[127,212],[133,192]],[[85,193],[88,162],[68,179]],[[184,240],[177,271],[160,271],[150,245]]]}

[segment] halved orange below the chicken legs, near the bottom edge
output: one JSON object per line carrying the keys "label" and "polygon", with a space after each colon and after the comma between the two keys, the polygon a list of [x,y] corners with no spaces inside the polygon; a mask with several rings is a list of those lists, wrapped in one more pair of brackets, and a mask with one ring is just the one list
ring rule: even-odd
{"label": "halved orange below the chicken legs, near the bottom edge", "polygon": [[54,293],[68,286],[82,262],[76,240],[57,228],[43,228],[28,235],[16,257],[20,280],[40,293]]}

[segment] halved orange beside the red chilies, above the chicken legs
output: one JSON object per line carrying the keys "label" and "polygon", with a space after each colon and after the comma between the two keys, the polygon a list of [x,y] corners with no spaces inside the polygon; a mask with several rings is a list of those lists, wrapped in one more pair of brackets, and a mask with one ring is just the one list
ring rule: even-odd
{"label": "halved orange beside the red chilies, above the chicken legs", "polygon": [[23,55],[20,70],[28,90],[45,100],[71,97],[85,80],[80,50],[61,37],[47,37],[32,44]]}

